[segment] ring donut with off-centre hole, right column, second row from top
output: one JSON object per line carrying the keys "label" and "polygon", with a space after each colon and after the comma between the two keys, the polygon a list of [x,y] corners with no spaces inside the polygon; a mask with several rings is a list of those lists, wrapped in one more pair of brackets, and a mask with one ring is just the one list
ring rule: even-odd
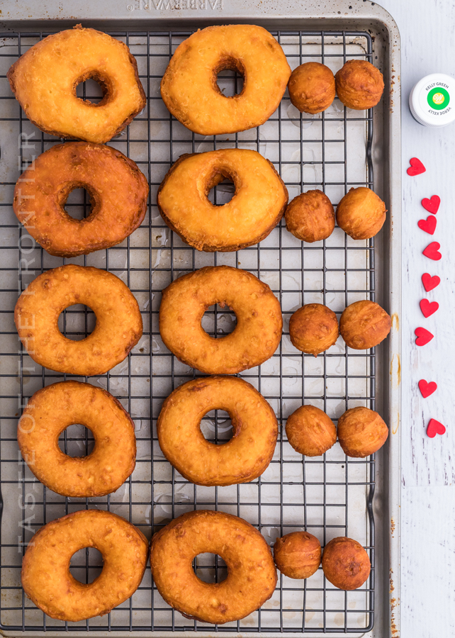
{"label": "ring donut with off-centre hole, right column, second row from top", "polygon": [[[208,199],[225,178],[235,194],[224,206]],[[162,218],[197,250],[231,252],[252,246],[273,230],[288,203],[288,191],[268,159],[253,150],[224,148],[182,155],[158,189]]]}

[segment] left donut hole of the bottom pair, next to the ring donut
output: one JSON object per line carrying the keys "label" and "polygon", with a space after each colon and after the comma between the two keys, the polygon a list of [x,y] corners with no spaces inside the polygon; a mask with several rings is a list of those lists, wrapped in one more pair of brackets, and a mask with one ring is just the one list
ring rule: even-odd
{"label": "left donut hole of the bottom pair, next to the ring donut", "polygon": [[318,571],[321,556],[320,542],[308,532],[291,532],[274,544],[276,566],[288,578],[309,578]]}

